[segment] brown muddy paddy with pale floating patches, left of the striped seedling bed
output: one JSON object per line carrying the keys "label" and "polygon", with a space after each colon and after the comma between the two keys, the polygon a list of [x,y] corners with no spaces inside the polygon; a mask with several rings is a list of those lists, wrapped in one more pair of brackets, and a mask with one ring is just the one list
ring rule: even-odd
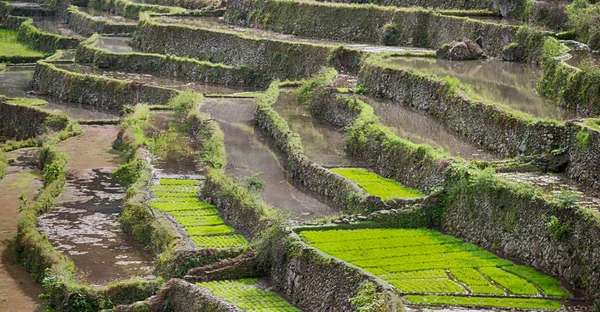
{"label": "brown muddy paddy with pale floating patches, left of the striped seedling bed", "polygon": [[68,156],[67,183],[51,213],[38,218],[52,245],[75,263],[92,285],[146,276],[153,256],[116,220],[124,190],[110,178],[119,164],[112,151],[115,126],[88,126],[83,134],[59,143]]}

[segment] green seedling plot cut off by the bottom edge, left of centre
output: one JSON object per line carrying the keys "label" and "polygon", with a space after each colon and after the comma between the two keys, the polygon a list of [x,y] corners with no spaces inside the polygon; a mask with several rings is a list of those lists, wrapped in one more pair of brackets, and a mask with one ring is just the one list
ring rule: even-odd
{"label": "green seedling plot cut off by the bottom edge, left of centre", "polygon": [[299,312],[276,293],[261,289],[255,278],[197,283],[244,311]]}

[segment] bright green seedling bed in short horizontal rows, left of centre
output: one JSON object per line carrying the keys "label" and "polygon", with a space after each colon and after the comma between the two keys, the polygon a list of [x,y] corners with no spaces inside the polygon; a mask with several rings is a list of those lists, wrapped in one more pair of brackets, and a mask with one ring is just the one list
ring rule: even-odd
{"label": "bright green seedling bed in short horizontal rows, left of centre", "polygon": [[[164,184],[163,184],[164,183]],[[226,225],[215,206],[198,200],[199,181],[161,179],[150,188],[155,197],[150,207],[172,216],[190,235],[198,248],[240,248],[248,245],[244,236]]]}

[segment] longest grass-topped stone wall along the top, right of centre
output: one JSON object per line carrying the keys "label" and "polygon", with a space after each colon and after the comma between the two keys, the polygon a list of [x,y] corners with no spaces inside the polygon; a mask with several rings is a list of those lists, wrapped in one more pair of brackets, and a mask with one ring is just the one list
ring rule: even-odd
{"label": "longest grass-topped stone wall along the top, right of centre", "polygon": [[481,37],[485,54],[496,58],[502,57],[506,45],[519,39],[518,26],[419,8],[317,1],[231,0],[227,2],[226,18],[232,24],[243,23],[303,37],[427,48]]}

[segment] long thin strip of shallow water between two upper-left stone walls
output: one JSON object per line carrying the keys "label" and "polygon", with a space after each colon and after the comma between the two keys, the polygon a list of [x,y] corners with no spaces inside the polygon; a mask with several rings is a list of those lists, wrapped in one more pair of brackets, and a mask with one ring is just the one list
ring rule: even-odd
{"label": "long thin strip of shallow water between two upper-left stone walls", "polygon": [[103,70],[98,67],[82,64],[69,64],[57,66],[65,70],[77,72],[80,74],[99,75],[121,80],[133,80],[151,86],[160,86],[176,90],[193,90],[195,92],[204,94],[232,94],[256,90],[254,88],[226,87],[223,85],[178,81],[172,78],[160,78],[149,74],[137,74],[129,72]]}

